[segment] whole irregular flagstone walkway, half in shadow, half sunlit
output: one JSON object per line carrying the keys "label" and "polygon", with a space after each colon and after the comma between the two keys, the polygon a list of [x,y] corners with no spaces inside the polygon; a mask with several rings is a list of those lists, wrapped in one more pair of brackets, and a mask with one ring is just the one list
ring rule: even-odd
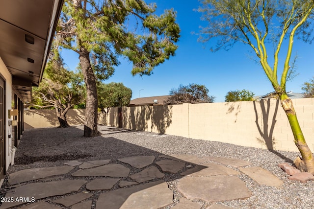
{"label": "whole irregular flagstone walkway, half in shadow, half sunlit", "polygon": [[[160,155],[65,164],[10,174],[11,189],[0,209],[201,209],[202,202],[207,209],[228,209],[215,202],[246,199],[252,194],[238,177],[241,173],[262,185],[283,184],[261,167],[228,158]],[[180,176],[178,191],[183,197],[179,203],[173,200],[165,174]],[[92,201],[95,192],[99,195],[96,203]]]}

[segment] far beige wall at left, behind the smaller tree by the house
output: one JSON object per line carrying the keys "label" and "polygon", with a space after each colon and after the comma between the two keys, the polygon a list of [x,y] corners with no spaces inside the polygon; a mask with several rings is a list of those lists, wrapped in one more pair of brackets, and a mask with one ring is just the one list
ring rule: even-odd
{"label": "far beige wall at left, behind the smaller tree by the house", "polygon": [[[83,125],[85,109],[70,109],[66,115],[69,125]],[[58,127],[59,121],[55,110],[25,110],[24,128]]]}

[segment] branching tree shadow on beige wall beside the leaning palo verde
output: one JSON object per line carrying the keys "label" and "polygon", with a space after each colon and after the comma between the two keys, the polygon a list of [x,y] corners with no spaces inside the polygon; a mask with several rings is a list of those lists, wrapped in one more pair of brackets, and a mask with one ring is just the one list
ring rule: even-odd
{"label": "branching tree shadow on beige wall beside the leaning palo verde", "polygon": [[[266,105],[265,105],[266,101]],[[262,124],[259,123],[259,116],[258,116],[258,110],[257,110],[257,105],[258,103],[260,104],[261,111],[262,111]],[[274,153],[275,155],[279,156],[283,160],[285,160],[288,163],[293,163],[291,159],[288,159],[281,153],[277,152],[274,150],[274,145],[275,145],[275,138],[273,137],[274,133],[274,128],[276,124],[276,116],[278,113],[278,107],[279,107],[280,100],[276,100],[276,105],[275,109],[273,110],[273,115],[271,116],[270,110],[271,110],[271,105],[270,105],[270,99],[262,99],[261,101],[253,101],[254,105],[254,111],[255,111],[255,123],[256,126],[260,132],[260,135],[262,136],[262,139],[257,138],[259,142],[262,144],[265,144],[267,149]],[[271,121],[271,124],[268,124],[269,121]],[[270,127],[270,128],[269,128]]]}

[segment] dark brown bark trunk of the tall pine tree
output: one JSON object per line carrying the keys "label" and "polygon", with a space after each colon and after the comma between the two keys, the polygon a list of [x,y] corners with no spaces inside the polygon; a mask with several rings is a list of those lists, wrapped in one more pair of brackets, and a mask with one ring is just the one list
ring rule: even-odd
{"label": "dark brown bark trunk of the tall pine tree", "polygon": [[97,137],[101,133],[97,130],[98,97],[96,79],[90,64],[89,52],[82,46],[79,49],[79,63],[82,68],[87,93],[84,137]]}

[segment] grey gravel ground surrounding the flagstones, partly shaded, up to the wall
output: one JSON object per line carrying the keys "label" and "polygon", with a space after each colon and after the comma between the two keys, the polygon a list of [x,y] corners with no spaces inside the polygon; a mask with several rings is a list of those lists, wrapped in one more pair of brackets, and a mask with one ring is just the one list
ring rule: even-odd
{"label": "grey gravel ground surrounding the flagstones, partly shaded, up to the wall", "polygon": [[[287,179],[287,174],[279,167],[279,163],[292,163],[298,155],[296,152],[262,150],[259,148],[243,147],[217,141],[188,139],[178,136],[158,135],[151,132],[140,132],[99,126],[102,136],[84,138],[83,126],[64,129],[46,128],[31,129],[23,134],[20,146],[16,152],[15,164],[9,167],[8,174],[18,170],[60,166],[71,160],[86,162],[91,160],[112,159],[111,163],[119,158],[130,156],[157,156],[164,154],[192,154],[198,157],[227,157],[237,158],[261,166],[284,181],[284,185],[277,187],[262,186],[241,174],[238,177],[252,191],[252,196],[246,200],[219,202],[224,206],[235,209],[313,209],[314,208],[314,181],[300,183]],[[215,140],[215,139],[211,139]],[[155,161],[155,162],[156,162]],[[155,163],[154,162],[154,163]],[[127,166],[127,164],[124,164]],[[235,168],[236,169],[236,168]],[[136,172],[131,170],[132,172]],[[71,175],[64,176],[73,178]],[[166,174],[164,180],[174,191],[174,202],[177,203],[182,195],[177,191],[180,175]],[[92,178],[91,178],[92,179]],[[36,182],[36,181],[32,181]],[[113,188],[115,189],[116,186]],[[10,187],[7,177],[0,189],[0,196],[4,196]],[[91,198],[93,204],[101,191],[96,191]],[[52,198],[47,198],[51,200]],[[202,201],[200,201],[202,202]],[[202,209],[209,206],[204,204]],[[175,204],[167,206],[172,208]],[[94,208],[94,206],[93,206]]]}

